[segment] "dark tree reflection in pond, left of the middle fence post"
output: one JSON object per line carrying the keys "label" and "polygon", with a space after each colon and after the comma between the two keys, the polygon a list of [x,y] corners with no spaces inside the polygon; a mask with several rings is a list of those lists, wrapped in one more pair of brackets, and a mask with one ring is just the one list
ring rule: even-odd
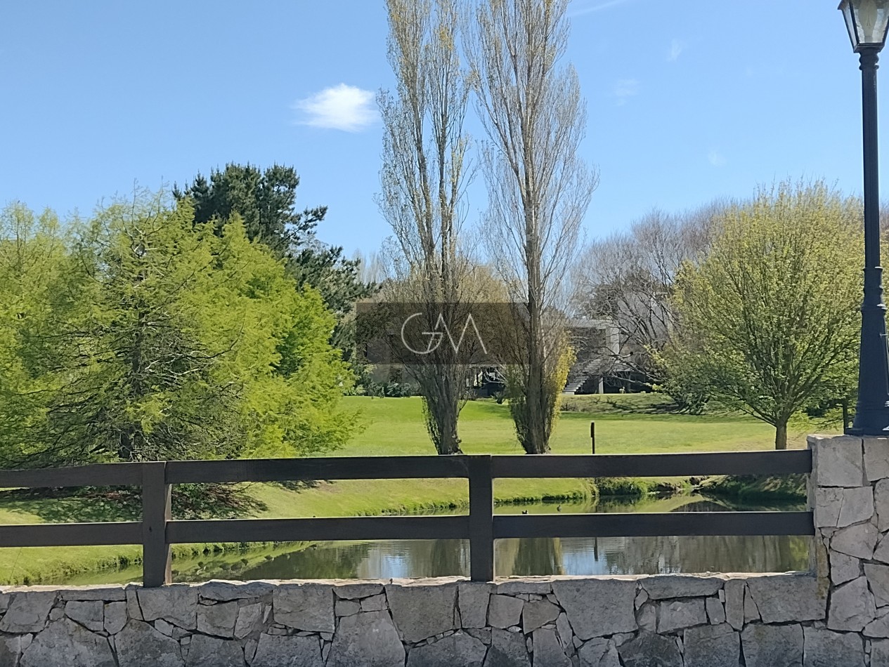
{"label": "dark tree reflection in pond, left of the middle fence post", "polygon": [[245,568],[240,579],[347,579],[357,576],[370,543],[312,544]]}

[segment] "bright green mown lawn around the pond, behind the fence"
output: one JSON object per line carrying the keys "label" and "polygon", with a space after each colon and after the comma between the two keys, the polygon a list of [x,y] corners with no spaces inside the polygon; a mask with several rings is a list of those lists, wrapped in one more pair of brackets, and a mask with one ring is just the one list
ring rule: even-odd
{"label": "bright green mown lawn around the pond, behind the fence", "polygon": [[[552,441],[555,454],[589,452],[589,422],[596,421],[597,454],[772,449],[773,428],[750,417],[688,416],[664,413],[653,394],[573,397],[566,403]],[[349,396],[366,428],[334,456],[433,454],[418,398]],[[577,410],[584,410],[583,412]],[[823,432],[823,429],[817,429]],[[791,447],[805,446],[812,425],[791,429]],[[461,413],[462,449],[467,454],[521,454],[509,407],[493,401],[469,401]],[[656,472],[656,471],[653,471]],[[354,516],[418,511],[467,503],[464,480],[344,480],[292,491],[253,484],[251,493],[266,505],[261,517]],[[589,496],[588,480],[498,480],[499,502],[543,497]],[[115,519],[113,507],[97,508],[82,500],[19,500],[0,504],[0,523],[39,523]],[[178,545],[185,554],[200,546]],[[37,583],[43,578],[115,567],[140,557],[140,547],[0,549],[0,583]]]}

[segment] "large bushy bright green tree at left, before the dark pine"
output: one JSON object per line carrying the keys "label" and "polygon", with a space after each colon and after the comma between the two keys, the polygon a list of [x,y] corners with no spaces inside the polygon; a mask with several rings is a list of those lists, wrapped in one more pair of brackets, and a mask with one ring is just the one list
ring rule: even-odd
{"label": "large bushy bright green tree at left, before the dark pine", "polygon": [[294,289],[238,218],[214,231],[162,195],[79,227],[37,299],[44,316],[18,328],[39,405],[7,458],[296,456],[348,439],[351,374],[322,298]]}

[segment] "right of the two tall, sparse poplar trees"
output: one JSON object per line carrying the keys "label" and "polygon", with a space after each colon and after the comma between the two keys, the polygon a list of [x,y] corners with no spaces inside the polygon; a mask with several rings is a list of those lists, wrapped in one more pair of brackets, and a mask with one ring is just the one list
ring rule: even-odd
{"label": "right of the two tall, sparse poplar trees", "polygon": [[[549,450],[567,375],[566,277],[597,173],[578,156],[586,105],[562,66],[568,0],[481,0],[467,51],[487,134],[484,171],[490,258],[527,304],[524,342],[511,364],[510,408],[528,453]],[[561,377],[561,378],[560,378]]]}

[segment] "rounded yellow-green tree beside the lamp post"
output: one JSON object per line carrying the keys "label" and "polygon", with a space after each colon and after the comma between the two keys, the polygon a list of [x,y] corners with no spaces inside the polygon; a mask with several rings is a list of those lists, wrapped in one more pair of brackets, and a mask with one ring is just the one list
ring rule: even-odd
{"label": "rounded yellow-green tree beside the lamp post", "polygon": [[708,256],[677,276],[668,376],[773,425],[785,449],[790,418],[854,377],[860,220],[822,182],[782,182],[726,210]]}

